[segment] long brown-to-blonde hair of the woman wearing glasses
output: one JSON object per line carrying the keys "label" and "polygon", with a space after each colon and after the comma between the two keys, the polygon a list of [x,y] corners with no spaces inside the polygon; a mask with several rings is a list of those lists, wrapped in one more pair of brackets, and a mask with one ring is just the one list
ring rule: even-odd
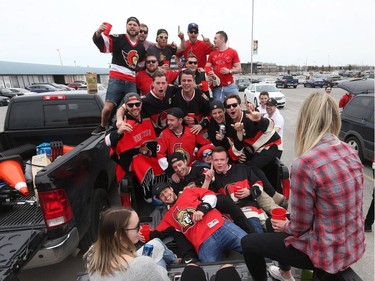
{"label": "long brown-to-blonde hair of the woman wearing glasses", "polygon": [[132,212],[129,208],[112,207],[101,214],[98,239],[83,256],[89,274],[104,276],[124,271],[122,255],[136,256],[136,248],[125,230]]}

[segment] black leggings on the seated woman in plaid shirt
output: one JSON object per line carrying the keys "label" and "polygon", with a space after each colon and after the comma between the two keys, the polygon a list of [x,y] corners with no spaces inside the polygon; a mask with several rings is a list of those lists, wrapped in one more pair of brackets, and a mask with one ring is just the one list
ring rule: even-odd
{"label": "black leggings on the seated woman in plaid shirt", "polygon": [[285,246],[284,240],[288,236],[289,234],[283,232],[274,232],[252,233],[242,238],[243,256],[254,281],[267,280],[265,257],[278,261],[282,270],[289,269],[289,266],[285,265],[315,269],[306,254],[293,247]]}

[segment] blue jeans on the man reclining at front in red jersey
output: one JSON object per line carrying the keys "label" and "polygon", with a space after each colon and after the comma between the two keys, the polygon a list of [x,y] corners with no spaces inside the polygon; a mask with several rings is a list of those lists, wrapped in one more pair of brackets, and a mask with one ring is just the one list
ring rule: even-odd
{"label": "blue jeans on the man reclining at front in red jersey", "polygon": [[241,238],[244,236],[246,236],[245,231],[225,220],[224,224],[202,243],[198,258],[202,262],[217,262],[222,259],[224,250],[242,253]]}

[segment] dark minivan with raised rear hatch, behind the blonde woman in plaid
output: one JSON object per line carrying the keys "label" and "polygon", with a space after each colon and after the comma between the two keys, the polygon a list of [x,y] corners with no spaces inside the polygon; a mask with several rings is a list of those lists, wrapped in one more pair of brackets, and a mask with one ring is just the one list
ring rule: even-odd
{"label": "dark minivan with raised rear hatch, behind the blonde woman in plaid", "polygon": [[362,161],[373,161],[374,79],[345,81],[338,87],[355,95],[341,113],[339,138],[354,147]]}

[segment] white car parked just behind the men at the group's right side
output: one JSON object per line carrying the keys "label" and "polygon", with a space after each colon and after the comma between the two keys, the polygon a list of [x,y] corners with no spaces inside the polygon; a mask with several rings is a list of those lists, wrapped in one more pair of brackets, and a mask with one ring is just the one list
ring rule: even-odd
{"label": "white car parked just behind the men at the group's right side", "polygon": [[245,89],[244,96],[246,95],[247,101],[254,103],[258,107],[259,94],[264,91],[268,92],[270,98],[277,100],[277,107],[283,108],[285,106],[285,96],[274,84],[252,84]]}

